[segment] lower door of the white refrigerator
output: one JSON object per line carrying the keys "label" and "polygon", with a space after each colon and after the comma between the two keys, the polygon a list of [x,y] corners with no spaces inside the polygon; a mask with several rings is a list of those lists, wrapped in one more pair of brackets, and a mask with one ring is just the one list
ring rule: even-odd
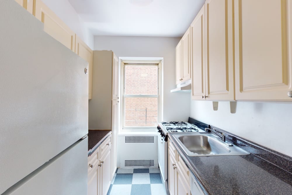
{"label": "lower door of the white refrigerator", "polygon": [[87,195],[87,148],[78,141],[2,195]]}

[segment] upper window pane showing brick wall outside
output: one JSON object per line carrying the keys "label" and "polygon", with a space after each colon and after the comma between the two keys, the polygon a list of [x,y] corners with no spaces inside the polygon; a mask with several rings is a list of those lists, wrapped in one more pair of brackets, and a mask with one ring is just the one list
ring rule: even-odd
{"label": "upper window pane showing brick wall outside", "polygon": [[157,95],[158,94],[157,65],[126,65],[125,94]]}

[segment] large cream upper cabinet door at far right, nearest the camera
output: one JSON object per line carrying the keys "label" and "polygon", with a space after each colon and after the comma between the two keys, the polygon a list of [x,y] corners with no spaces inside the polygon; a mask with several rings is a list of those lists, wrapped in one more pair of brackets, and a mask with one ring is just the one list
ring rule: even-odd
{"label": "large cream upper cabinet door at far right, nearest the camera", "polygon": [[234,1],[237,100],[292,100],[291,11],[288,0]]}

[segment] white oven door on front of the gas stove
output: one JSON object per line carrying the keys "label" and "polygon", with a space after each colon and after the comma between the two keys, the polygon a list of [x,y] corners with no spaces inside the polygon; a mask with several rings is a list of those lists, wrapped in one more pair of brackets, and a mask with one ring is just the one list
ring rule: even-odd
{"label": "white oven door on front of the gas stove", "polygon": [[167,189],[167,141],[164,141],[164,137],[161,137],[159,132],[157,134],[158,164],[162,181]]}

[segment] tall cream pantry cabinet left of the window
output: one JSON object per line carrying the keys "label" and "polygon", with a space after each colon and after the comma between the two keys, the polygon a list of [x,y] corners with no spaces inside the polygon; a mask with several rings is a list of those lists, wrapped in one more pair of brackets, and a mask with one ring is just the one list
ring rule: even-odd
{"label": "tall cream pantry cabinet left of the window", "polygon": [[93,51],[92,99],[88,103],[88,127],[112,130],[112,176],[117,168],[119,60],[112,51]]}

